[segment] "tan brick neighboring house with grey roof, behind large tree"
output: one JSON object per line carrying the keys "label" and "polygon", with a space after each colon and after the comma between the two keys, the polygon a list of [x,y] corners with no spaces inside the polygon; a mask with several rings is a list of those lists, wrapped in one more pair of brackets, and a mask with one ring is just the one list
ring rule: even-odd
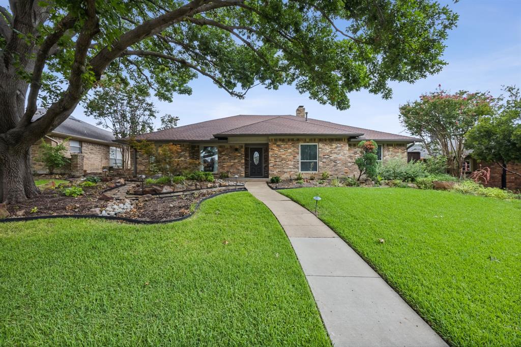
{"label": "tan brick neighboring house with grey roof, behind large tree", "polygon": [[[40,118],[44,112],[44,109],[36,111],[33,120]],[[41,141],[56,145],[63,143],[65,139],[69,139],[65,143],[68,148],[65,156],[71,159],[70,165],[57,172],[81,176],[85,172],[102,172],[103,168],[120,168],[122,165],[120,144],[113,142],[114,135],[110,131],[69,116]],[[31,168],[36,173],[47,173],[47,169],[38,159],[40,143],[38,141],[31,146]]]}

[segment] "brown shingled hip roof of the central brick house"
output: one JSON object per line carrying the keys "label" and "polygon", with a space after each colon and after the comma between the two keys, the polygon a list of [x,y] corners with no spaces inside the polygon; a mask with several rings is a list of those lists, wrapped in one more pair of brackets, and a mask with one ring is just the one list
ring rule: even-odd
{"label": "brown shingled hip roof of the central brick house", "polygon": [[276,135],[331,135],[356,138],[356,140],[380,140],[414,142],[418,139],[363,128],[344,126],[324,120],[292,115],[237,115],[207,120],[182,127],[138,135],[138,140],[150,141],[216,141],[234,136]]}

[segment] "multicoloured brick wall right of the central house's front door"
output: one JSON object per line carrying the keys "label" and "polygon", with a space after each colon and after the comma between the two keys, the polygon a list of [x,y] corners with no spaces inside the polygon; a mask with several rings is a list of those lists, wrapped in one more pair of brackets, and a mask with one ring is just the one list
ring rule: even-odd
{"label": "multicoloured brick wall right of the central house's front door", "polygon": [[[328,171],[330,176],[358,177],[355,159],[359,155],[356,143],[348,143],[347,139],[270,139],[269,142],[269,176],[280,176],[283,179],[295,177],[299,172],[299,145],[301,143],[318,143],[318,173],[303,172],[302,176],[319,178]],[[382,161],[385,164],[391,159],[407,162],[407,147],[402,143],[383,143]]]}

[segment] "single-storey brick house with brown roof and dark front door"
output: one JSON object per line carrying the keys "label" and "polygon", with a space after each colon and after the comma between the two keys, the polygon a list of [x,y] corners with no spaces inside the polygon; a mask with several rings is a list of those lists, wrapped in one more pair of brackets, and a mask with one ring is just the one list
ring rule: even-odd
{"label": "single-storey brick house with brown roof and dark front door", "polygon": [[[202,171],[225,172],[230,177],[320,178],[322,172],[334,176],[356,175],[356,146],[375,140],[378,159],[407,160],[407,144],[418,139],[387,132],[344,126],[307,118],[303,106],[292,115],[238,115],[192,125],[138,135],[137,140],[156,145],[174,143],[181,156],[195,159]],[[121,140],[118,140],[121,141]],[[123,142],[125,140],[122,140]],[[146,173],[150,157],[134,150],[134,174]]]}

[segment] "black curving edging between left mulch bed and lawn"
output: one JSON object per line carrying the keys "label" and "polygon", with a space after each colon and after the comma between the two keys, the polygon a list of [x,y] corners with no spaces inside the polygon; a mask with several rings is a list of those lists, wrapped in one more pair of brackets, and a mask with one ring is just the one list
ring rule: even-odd
{"label": "black curving edging between left mulch bed and lawn", "polygon": [[234,192],[244,192],[247,191],[246,188],[236,189],[236,190],[228,190],[224,192],[215,193],[209,196],[204,197],[201,201],[195,205],[194,212],[182,216],[179,218],[169,219],[169,220],[142,220],[142,219],[133,219],[133,218],[125,218],[125,217],[117,217],[117,216],[96,216],[96,215],[54,215],[54,216],[35,216],[35,217],[21,217],[21,218],[5,218],[0,219],[0,223],[7,223],[7,222],[17,222],[17,221],[26,221],[26,220],[38,220],[38,219],[55,219],[55,218],[75,218],[75,219],[82,219],[82,218],[97,218],[97,219],[107,219],[107,220],[121,220],[126,221],[134,224],[165,224],[165,223],[171,223],[175,221],[180,221],[183,219],[187,219],[191,217],[197,210],[199,209],[199,206],[201,203],[205,200],[212,199],[212,197],[216,197],[218,195],[227,194],[227,193],[234,193]]}

